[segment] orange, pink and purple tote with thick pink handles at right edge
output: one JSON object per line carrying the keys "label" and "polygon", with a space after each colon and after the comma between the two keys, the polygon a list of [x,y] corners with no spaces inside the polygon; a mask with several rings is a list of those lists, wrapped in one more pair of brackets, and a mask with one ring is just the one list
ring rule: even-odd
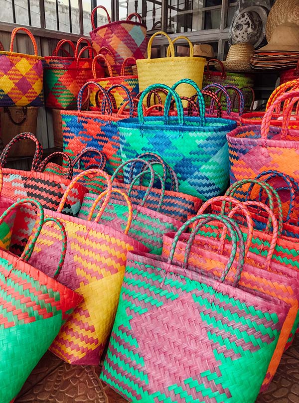
{"label": "orange, pink and purple tote with thick pink handles at right edge", "polygon": [[[268,109],[261,126],[245,126],[227,135],[230,181],[254,178],[263,171],[280,170],[299,180],[299,135],[288,129],[291,113],[284,116],[283,127],[270,127],[272,114],[282,101],[299,100],[299,90],[281,95]],[[291,108],[290,108],[291,109]]]}

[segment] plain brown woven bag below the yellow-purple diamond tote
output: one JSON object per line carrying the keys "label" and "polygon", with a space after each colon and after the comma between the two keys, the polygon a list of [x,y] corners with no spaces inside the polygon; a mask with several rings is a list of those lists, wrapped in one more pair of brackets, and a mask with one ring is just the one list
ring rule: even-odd
{"label": "plain brown woven bag below the yellow-purple diamond tote", "polygon": [[[4,146],[19,133],[30,132],[36,135],[38,110],[35,107],[0,108],[0,134]],[[34,152],[32,141],[24,140],[12,147],[10,156],[33,156]]]}

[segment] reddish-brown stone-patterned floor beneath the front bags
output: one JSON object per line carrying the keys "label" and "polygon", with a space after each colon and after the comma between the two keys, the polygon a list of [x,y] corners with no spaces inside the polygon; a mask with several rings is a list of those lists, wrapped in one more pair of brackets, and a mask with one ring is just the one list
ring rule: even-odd
{"label": "reddish-brown stone-patterned floor beneath the front bags", "polygon": [[[47,352],[15,403],[125,403],[99,380],[99,367],[66,364]],[[270,388],[256,403],[299,403],[299,336],[284,354]]]}

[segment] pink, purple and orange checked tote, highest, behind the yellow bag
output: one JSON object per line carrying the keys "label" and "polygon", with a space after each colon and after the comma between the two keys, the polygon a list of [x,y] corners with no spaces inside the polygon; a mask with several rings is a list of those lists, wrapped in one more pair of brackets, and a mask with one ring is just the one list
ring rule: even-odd
{"label": "pink, purple and orange checked tote, highest, behind the yellow bag", "polygon": [[[103,9],[108,18],[108,24],[95,27],[95,13],[98,8]],[[136,17],[139,22],[132,21]],[[111,22],[110,15],[105,7],[98,5],[91,13],[92,31],[91,43],[96,53],[103,52],[101,48],[108,48],[114,55],[115,64],[112,66],[114,75],[120,75],[122,64],[128,57],[144,59],[147,53],[147,26],[142,23],[141,16],[135,12],[128,15],[126,20]]]}

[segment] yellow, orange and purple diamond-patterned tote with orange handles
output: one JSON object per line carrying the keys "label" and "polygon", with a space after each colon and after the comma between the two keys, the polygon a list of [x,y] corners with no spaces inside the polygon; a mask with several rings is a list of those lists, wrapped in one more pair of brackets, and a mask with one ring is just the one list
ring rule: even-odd
{"label": "yellow, orange and purple diamond-patterned tote with orange handles", "polygon": [[[31,39],[34,55],[13,52],[19,30]],[[9,52],[0,50],[0,106],[43,106],[43,62],[32,33],[27,28],[14,28]]]}

